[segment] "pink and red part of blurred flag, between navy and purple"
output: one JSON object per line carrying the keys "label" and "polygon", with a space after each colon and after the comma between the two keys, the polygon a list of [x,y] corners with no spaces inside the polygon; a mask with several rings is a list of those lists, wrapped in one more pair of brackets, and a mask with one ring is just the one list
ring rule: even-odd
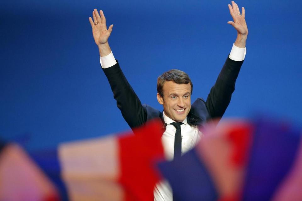
{"label": "pink and red part of blurred flag, between navy and purple", "polygon": [[219,200],[240,199],[253,126],[239,120],[207,124],[196,147],[219,193]]}

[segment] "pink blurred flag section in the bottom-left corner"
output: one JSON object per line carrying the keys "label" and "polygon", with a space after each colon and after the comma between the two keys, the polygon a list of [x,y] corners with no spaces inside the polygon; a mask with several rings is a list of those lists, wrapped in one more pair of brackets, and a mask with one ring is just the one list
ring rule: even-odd
{"label": "pink blurred flag section in the bottom-left corner", "polygon": [[0,154],[0,200],[56,201],[53,183],[16,144],[7,145]]}

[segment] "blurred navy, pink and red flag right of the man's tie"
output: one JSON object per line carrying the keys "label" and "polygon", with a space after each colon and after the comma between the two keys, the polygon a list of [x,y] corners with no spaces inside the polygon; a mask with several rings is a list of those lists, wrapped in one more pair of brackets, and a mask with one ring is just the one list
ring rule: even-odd
{"label": "blurred navy, pink and red flag right of the man's tie", "polygon": [[179,160],[159,164],[174,200],[238,200],[253,126],[243,121],[208,124],[199,144]]}

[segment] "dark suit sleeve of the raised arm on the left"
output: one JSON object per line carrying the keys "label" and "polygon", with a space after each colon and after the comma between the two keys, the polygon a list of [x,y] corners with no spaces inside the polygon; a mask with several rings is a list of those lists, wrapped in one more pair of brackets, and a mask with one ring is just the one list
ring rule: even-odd
{"label": "dark suit sleeve of the raised arm on the left", "polygon": [[117,107],[130,128],[143,125],[147,120],[147,113],[120,69],[119,63],[102,69],[109,81]]}

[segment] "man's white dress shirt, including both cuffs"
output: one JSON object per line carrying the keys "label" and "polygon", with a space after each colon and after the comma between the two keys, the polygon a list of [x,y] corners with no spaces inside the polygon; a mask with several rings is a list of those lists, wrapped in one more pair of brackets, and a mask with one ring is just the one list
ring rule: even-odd
{"label": "man's white dress shirt, including both cuffs", "polygon": [[[246,48],[239,48],[233,44],[229,58],[234,61],[243,61],[246,54]],[[105,57],[100,57],[100,63],[102,68],[109,68],[116,64],[113,53],[110,52],[109,55]],[[164,120],[167,123],[167,127],[163,136],[161,138],[165,158],[166,160],[173,160],[174,156],[174,137],[176,133],[176,128],[170,123],[175,122],[171,118],[165,115],[164,111]],[[182,131],[182,154],[186,153],[192,149],[195,144],[201,139],[202,133],[198,130],[197,126],[190,126],[187,124],[187,118],[185,118],[181,125]],[[169,125],[170,124],[170,125]],[[173,194],[171,186],[168,181],[163,180],[156,184],[154,187],[154,201],[172,201]]]}

